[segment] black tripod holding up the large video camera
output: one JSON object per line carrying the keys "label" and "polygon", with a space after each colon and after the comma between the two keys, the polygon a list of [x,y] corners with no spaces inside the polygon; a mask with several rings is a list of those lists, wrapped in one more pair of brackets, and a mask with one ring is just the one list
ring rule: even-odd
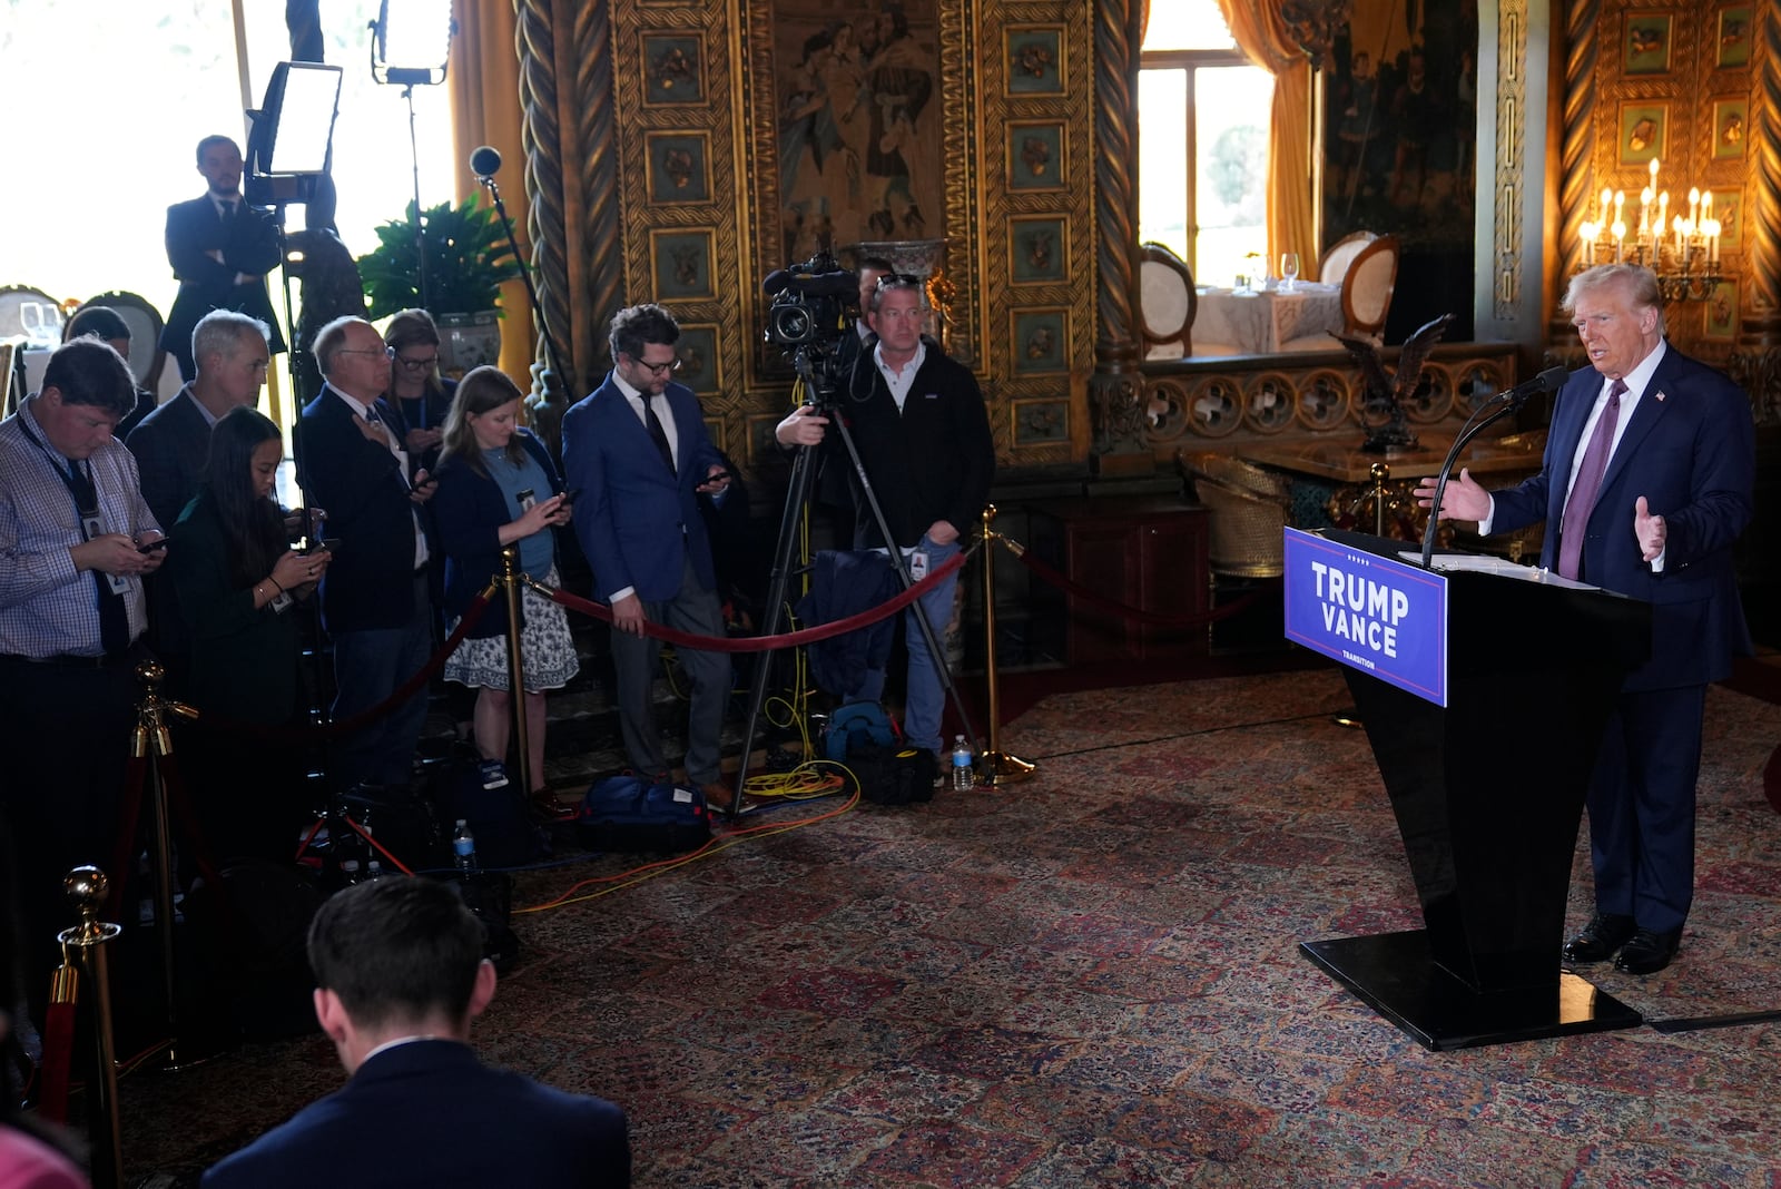
{"label": "black tripod holding up the large video camera", "polygon": [[[851,331],[850,331],[851,333]],[[819,365],[826,365],[834,356],[817,354],[810,344],[798,347],[794,367],[798,368],[798,388],[805,395],[805,404],[828,418],[830,429],[834,429],[842,447],[848,452],[848,463],[853,466],[853,475],[860,486],[860,498],[871,509],[873,522],[878,527],[878,536],[885,543],[885,552],[890,557],[890,566],[896,570],[898,580],[903,589],[915,586],[915,578],[908,571],[908,562],[903,559],[903,550],[898,546],[896,538],[890,534],[890,523],[885,520],[883,507],[878,504],[878,493],[873,489],[873,481],[866,473],[866,463],[860,461],[860,450],[853,443],[853,434],[848,431],[848,422],[839,417],[835,409],[835,383],[832,376],[819,374]],[[826,368],[823,368],[826,370]],[[791,584],[793,575],[793,554],[798,546],[798,523],[803,518],[805,509],[810,504],[810,489],[816,481],[816,445],[798,447],[796,456],[791,465],[791,486],[785,493],[785,511],[780,514],[780,532],[778,543],[773,548],[773,571],[768,584],[768,605],[762,623],[762,635],[775,635],[780,630],[780,621],[784,618],[785,607],[785,587]],[[800,559],[805,561],[805,559]],[[931,657],[935,671],[940,676],[940,685],[946,691],[946,698],[958,716],[960,726],[964,726],[965,737],[971,740],[972,751],[978,749],[978,733],[971,726],[971,716],[965,712],[965,705],[958,696],[958,687],[953,683],[953,673],[946,664],[946,651],[940,648],[940,641],[935,637],[933,625],[928,621],[928,612],[915,600],[908,605],[914,612],[915,627],[921,630],[923,639],[928,644],[928,657]],[[771,669],[773,653],[768,651],[760,657],[755,666],[753,680],[748,689],[748,719],[743,726],[743,762],[736,769],[736,796],[730,801],[730,819],[736,817],[737,808],[743,803],[743,785],[748,780],[748,756],[753,755],[755,746],[755,724],[760,719],[760,708],[766,703],[768,692],[768,671]]]}

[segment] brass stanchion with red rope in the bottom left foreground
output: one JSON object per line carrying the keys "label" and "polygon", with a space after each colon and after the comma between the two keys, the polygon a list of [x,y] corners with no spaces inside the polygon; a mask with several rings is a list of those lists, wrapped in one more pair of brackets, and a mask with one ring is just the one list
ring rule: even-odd
{"label": "brass stanchion with red rope in the bottom left foreground", "polygon": [[118,1127],[118,1059],[112,1048],[110,970],[105,943],[123,933],[121,926],[100,920],[110,881],[98,867],[77,867],[62,879],[62,888],[80,913],[80,924],[62,929],[62,965],[50,981],[50,1011],[45,1022],[43,1095],[45,1118],[68,1120],[69,1059],[73,1054],[75,1009],[80,983],[93,988],[93,1079],[87,1082],[87,1134],[91,1137],[93,1189],[121,1189],[123,1146]]}

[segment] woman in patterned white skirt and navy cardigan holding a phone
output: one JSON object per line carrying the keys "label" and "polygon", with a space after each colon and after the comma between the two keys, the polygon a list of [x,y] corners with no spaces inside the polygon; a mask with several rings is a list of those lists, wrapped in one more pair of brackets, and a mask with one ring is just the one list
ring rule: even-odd
{"label": "woman in patterned white skirt and navy cardigan holding a phone", "polygon": [[[556,538],[570,506],[543,443],[520,429],[520,390],[493,367],[479,367],[458,384],[445,417],[433,516],[445,550],[445,614],[463,618],[500,568],[500,550],[518,548],[518,568],[557,582]],[[527,587],[520,603],[520,659],[525,669],[525,742],[533,805],[554,813],[543,789],[545,692],[579,671],[563,607]],[[445,678],[477,687],[474,735],[483,756],[483,787],[508,783],[506,758],[513,694],[508,680],[508,607],[490,603],[470,637],[445,660]]]}

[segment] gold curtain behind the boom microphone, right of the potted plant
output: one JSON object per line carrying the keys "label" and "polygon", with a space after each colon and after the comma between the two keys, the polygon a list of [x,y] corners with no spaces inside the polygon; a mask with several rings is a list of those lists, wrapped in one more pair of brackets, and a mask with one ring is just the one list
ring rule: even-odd
{"label": "gold curtain behind the boom microphone, right of the potted plant", "polygon": [[[500,153],[500,201],[513,219],[520,256],[531,267],[525,240],[525,150],[520,144],[520,55],[515,39],[513,0],[458,0],[458,36],[452,39],[451,73],[452,153],[458,155],[458,196],[463,201],[483,189],[470,173],[470,153],[488,144]],[[483,199],[488,203],[486,196]],[[500,370],[527,388],[536,351],[536,322],[524,281],[500,287]]]}

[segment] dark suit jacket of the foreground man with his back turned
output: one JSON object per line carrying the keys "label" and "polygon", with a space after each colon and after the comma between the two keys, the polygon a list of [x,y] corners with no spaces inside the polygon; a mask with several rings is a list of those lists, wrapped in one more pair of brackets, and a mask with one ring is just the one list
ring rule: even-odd
{"label": "dark suit jacket of the foreground man with his back turned", "polygon": [[383,1189],[629,1185],[630,1143],[611,1102],[490,1070],[468,1045],[427,1039],[379,1052],[201,1184],[313,1189],[329,1180]]}

